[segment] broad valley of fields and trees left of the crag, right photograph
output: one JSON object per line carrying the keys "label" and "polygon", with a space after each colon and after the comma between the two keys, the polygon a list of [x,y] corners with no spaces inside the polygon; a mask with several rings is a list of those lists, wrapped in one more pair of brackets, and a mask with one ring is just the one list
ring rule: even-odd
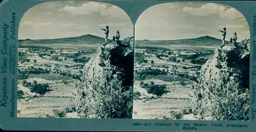
{"label": "broad valley of fields and trees left of the crag, right photograph", "polygon": [[200,68],[214,54],[214,48],[137,46],[133,118],[194,119],[193,85],[197,84]]}

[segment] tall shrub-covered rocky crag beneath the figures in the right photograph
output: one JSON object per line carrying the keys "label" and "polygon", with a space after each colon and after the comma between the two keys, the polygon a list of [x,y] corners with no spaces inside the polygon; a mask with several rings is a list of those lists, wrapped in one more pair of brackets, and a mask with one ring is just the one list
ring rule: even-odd
{"label": "tall shrub-covered rocky crag beneath the figures in the right photograph", "polygon": [[215,49],[194,87],[193,113],[201,120],[249,119],[250,40]]}

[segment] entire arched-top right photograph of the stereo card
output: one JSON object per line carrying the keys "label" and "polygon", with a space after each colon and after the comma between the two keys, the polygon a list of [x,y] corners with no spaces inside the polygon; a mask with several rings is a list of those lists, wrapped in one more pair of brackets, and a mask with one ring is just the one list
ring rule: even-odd
{"label": "entire arched-top right photograph of the stereo card", "polygon": [[229,6],[145,10],[135,24],[133,119],[248,121],[249,38]]}

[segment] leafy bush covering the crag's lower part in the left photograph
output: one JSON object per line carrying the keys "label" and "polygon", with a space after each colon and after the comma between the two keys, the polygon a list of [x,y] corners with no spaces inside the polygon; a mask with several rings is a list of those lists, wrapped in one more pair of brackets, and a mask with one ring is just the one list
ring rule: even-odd
{"label": "leafy bush covering the crag's lower part in the left photograph", "polygon": [[[132,118],[133,93],[113,71],[103,70],[101,76],[77,85],[76,108],[81,118]],[[87,75],[84,80],[87,80]]]}

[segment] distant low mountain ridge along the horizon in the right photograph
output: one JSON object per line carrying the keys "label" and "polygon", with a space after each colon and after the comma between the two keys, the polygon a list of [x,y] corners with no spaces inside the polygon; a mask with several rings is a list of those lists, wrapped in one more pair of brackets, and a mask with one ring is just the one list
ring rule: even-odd
{"label": "distant low mountain ridge along the horizon in the right photograph", "polygon": [[[228,41],[226,41],[228,43]],[[136,40],[136,45],[188,45],[188,46],[212,46],[219,47],[222,44],[221,39],[210,36],[203,36],[191,39],[178,40]]]}

